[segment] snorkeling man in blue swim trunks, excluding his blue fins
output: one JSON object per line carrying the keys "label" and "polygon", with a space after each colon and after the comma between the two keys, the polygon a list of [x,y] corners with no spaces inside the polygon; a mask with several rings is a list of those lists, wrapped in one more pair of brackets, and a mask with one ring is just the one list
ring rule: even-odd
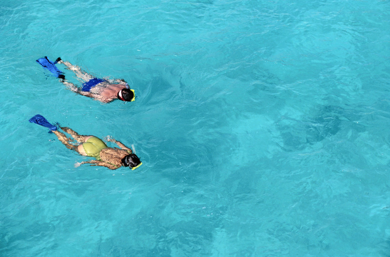
{"label": "snorkeling man in blue swim trunks, excluding his blue fins", "polygon": [[63,61],[59,57],[56,59],[56,63],[64,64],[67,69],[73,71],[79,79],[84,81],[81,87],[77,87],[68,80],[65,80],[65,76],[63,74],[58,76],[58,78],[60,78],[59,81],[73,92],[105,103],[116,99],[120,99],[122,101],[133,101],[135,99],[134,90],[130,89],[126,81],[123,79],[114,79],[110,81],[94,77],[81,70],[80,67],[72,65],[68,61]]}

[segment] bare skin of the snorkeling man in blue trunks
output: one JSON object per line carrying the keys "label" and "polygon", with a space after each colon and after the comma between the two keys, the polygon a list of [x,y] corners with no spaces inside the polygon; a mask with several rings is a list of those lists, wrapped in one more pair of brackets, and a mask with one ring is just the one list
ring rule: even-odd
{"label": "bare skin of the snorkeling man in blue trunks", "polygon": [[[92,75],[83,71],[79,66],[72,65],[68,61],[60,60],[58,63],[64,64],[66,69],[73,71],[78,78],[84,81],[88,81],[93,78]],[[114,79],[113,82],[115,83],[110,83],[108,81],[100,82],[93,86],[89,92],[82,91],[80,88],[67,80],[62,80],[61,82],[73,92],[94,98],[95,100],[99,100],[104,103],[117,99],[117,92],[123,88],[126,88],[126,82],[123,79]]]}

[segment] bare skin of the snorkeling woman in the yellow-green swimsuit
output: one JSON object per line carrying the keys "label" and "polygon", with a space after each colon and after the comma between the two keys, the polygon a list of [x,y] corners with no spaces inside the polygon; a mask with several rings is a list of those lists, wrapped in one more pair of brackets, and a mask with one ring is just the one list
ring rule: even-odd
{"label": "bare skin of the snorkeling woman in the yellow-green swimsuit", "polygon": [[[86,142],[86,140],[88,140],[88,138],[92,137],[93,135],[80,135],[69,127],[60,128],[66,133],[70,134],[73,139],[67,137],[64,133],[58,130],[52,131],[58,137],[58,140],[60,140],[67,148],[86,156],[87,154],[84,150],[84,147],[82,146],[82,143]],[[110,136],[106,136],[104,139],[106,141],[116,143],[120,148],[104,148],[99,153],[100,160],[82,161],[78,164],[91,163],[91,166],[104,166],[109,169],[117,169],[122,166],[123,164],[121,159],[124,158],[124,156],[132,153],[131,149],[125,146],[123,143],[111,138]],[[76,141],[78,144],[72,144],[74,141]]]}

